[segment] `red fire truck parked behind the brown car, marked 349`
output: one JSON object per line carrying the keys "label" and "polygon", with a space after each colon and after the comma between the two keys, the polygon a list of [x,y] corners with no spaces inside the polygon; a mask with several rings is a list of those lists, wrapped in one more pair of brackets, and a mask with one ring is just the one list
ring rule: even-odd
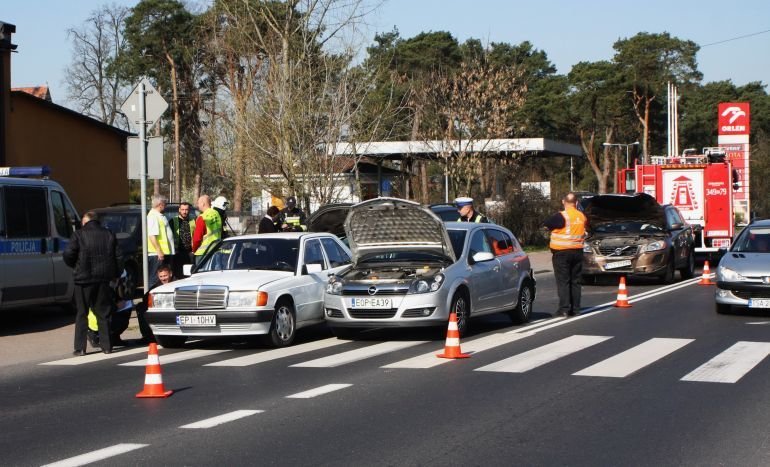
{"label": "red fire truck parked behind the brown car, marked 349", "polygon": [[671,204],[695,227],[699,254],[730,246],[733,237],[733,191],[738,173],[722,148],[687,149],[681,156],[651,156],[649,161],[617,174],[618,192],[643,192]]}

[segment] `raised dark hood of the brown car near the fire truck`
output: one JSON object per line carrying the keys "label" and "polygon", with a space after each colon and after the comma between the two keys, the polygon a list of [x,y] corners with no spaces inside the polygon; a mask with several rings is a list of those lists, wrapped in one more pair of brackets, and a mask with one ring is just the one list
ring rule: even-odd
{"label": "raised dark hood of the brown car near the fire truck", "polygon": [[663,206],[646,193],[593,196],[585,200],[583,213],[588,218],[588,227],[591,229],[602,224],[632,221],[666,228]]}

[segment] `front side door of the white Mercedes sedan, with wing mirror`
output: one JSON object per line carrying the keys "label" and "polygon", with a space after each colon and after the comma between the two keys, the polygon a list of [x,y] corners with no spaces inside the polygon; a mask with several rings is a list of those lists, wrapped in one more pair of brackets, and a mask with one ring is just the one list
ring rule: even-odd
{"label": "front side door of the white Mercedes sedan, with wing mirror", "polygon": [[328,265],[318,238],[308,238],[302,243],[299,264],[300,276],[293,287],[292,296],[297,312],[297,322],[323,319],[323,296],[328,281]]}

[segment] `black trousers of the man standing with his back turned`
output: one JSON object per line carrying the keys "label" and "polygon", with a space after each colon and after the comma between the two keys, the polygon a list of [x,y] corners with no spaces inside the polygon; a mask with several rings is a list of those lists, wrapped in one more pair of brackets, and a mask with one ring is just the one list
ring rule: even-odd
{"label": "black trousers of the man standing with his back turned", "polygon": [[75,284],[75,350],[86,349],[88,337],[88,309],[93,310],[99,324],[99,344],[102,350],[112,350],[110,341],[110,313],[115,308],[113,291],[108,282]]}

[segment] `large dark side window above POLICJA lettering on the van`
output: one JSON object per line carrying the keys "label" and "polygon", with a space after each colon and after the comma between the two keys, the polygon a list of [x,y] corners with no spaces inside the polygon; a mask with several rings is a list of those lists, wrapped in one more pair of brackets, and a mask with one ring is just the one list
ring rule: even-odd
{"label": "large dark side window above POLICJA lettering on the van", "polygon": [[5,222],[8,238],[47,237],[46,189],[6,186]]}

